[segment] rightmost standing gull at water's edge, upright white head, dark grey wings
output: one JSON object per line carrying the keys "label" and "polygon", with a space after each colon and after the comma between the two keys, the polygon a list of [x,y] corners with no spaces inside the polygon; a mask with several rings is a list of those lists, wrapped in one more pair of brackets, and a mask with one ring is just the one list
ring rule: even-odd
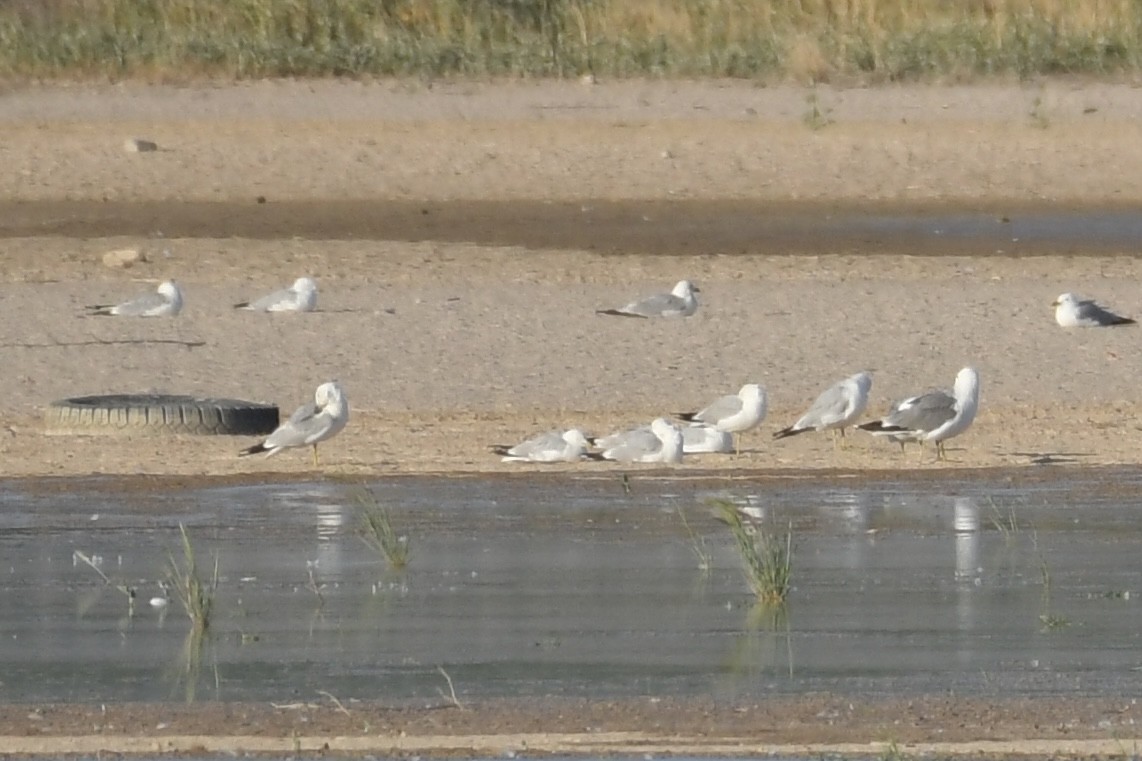
{"label": "rightmost standing gull at water's edge, upright white head, dark grey wings", "polygon": [[980,409],[980,374],[965,367],[956,374],[951,393],[932,391],[904,399],[879,420],[859,426],[878,435],[900,436],[901,441],[935,442],[935,458],[947,459],[943,442],[966,431]]}

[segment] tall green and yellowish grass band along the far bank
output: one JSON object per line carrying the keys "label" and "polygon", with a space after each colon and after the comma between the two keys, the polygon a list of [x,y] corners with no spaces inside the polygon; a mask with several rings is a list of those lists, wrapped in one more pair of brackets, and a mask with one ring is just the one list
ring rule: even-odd
{"label": "tall green and yellowish grass band along the far bank", "polygon": [[1135,0],[0,0],[0,75],[1127,74]]}

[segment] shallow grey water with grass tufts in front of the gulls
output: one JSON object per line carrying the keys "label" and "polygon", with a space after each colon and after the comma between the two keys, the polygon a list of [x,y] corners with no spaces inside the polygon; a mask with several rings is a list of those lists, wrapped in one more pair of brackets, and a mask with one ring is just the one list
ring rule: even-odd
{"label": "shallow grey water with grass tufts in front of the gulls", "polygon": [[[1142,471],[1036,473],[636,474],[629,494],[581,475],[386,479],[370,487],[409,536],[399,575],[355,534],[356,486],[13,481],[0,695],[439,699],[440,668],[461,699],[1136,694]],[[751,606],[715,497],[791,521],[783,615]],[[180,522],[222,577],[190,659],[178,601],[150,604]],[[132,615],[77,551],[138,590]]]}

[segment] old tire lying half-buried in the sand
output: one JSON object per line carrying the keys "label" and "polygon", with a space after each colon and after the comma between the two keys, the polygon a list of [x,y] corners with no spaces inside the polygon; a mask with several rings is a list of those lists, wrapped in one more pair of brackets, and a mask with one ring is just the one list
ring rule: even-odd
{"label": "old tire lying half-buried in the sand", "polygon": [[48,433],[192,433],[263,435],[278,427],[275,404],[236,399],[198,399],[167,394],[78,396],[51,402],[45,412]]}

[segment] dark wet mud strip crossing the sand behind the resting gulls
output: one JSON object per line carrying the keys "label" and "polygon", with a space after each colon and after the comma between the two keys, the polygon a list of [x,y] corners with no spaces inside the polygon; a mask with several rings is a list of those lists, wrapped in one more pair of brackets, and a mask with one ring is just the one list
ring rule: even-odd
{"label": "dark wet mud strip crossing the sand behind the resting gulls", "polygon": [[3,201],[0,238],[399,240],[664,255],[1107,255],[1136,208],[772,201]]}

